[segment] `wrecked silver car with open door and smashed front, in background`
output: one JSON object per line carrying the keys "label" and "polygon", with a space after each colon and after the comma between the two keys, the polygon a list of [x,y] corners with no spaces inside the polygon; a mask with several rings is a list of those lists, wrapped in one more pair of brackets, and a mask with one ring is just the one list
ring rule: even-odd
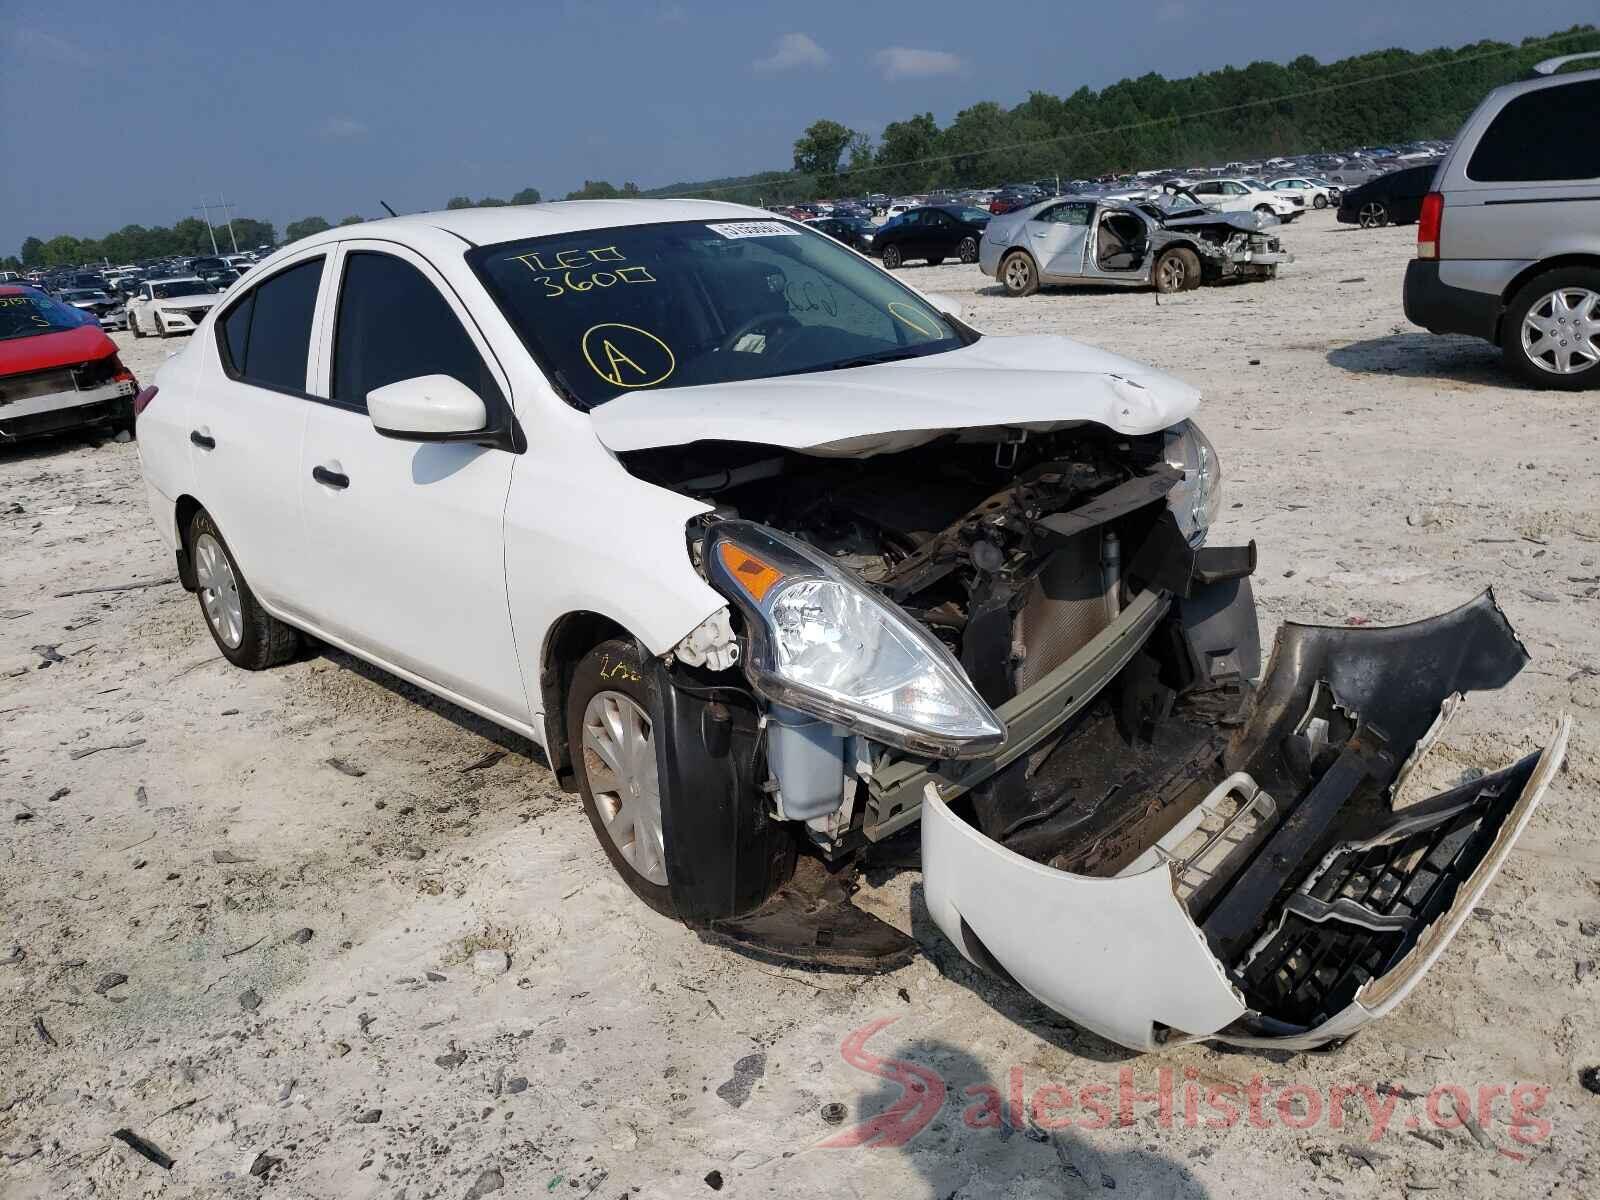
{"label": "wrecked silver car with open door and smashed front, in background", "polygon": [[1274,278],[1294,261],[1266,232],[1275,224],[1256,213],[1218,213],[1182,190],[1144,200],[1066,197],[990,221],[978,264],[1010,296],[1051,283],[1192,291]]}

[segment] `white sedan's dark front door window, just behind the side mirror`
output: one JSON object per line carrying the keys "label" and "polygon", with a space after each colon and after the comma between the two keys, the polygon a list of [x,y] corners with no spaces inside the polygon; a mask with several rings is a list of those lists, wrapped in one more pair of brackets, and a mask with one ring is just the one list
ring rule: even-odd
{"label": "white sedan's dark front door window, just behind the side mirror", "polygon": [[344,259],[333,331],[333,400],[366,411],[366,394],[424,374],[448,374],[490,411],[502,403],[477,346],[429,278],[392,254]]}

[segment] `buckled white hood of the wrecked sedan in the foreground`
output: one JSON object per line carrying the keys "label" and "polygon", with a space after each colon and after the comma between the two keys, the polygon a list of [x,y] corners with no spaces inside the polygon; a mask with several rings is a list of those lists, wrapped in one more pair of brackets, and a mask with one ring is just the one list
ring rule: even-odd
{"label": "buckled white hood of the wrecked sedan in the foreground", "polygon": [[1163,371],[1040,334],[877,366],[630,392],[589,416],[613,451],[710,440],[869,458],[992,426],[1154,434],[1198,403],[1197,389]]}

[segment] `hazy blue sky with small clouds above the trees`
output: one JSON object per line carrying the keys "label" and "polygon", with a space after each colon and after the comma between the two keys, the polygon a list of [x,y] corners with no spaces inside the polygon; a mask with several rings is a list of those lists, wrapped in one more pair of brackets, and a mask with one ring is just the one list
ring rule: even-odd
{"label": "hazy blue sky with small clouds above the trees", "polygon": [[[1581,8],[1589,8],[1584,0]],[[1590,14],[1592,16],[1592,14]],[[1504,0],[0,0],[0,253],[787,168],[819,117],[870,134],[1155,70],[1547,34]]]}

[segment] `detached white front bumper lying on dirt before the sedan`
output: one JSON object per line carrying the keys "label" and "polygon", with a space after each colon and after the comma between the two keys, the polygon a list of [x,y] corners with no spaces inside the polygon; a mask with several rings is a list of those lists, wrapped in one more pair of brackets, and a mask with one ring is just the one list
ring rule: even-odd
{"label": "detached white front bumper lying on dirt before the sedan", "polygon": [[920,781],[928,910],[968,960],[1134,1050],[1347,1037],[1443,952],[1560,768],[1565,720],[1541,754],[1410,795],[1461,696],[1526,661],[1488,592],[1392,629],[1285,626],[1221,755],[1125,781],[1125,813],[1112,789],[984,832]]}

